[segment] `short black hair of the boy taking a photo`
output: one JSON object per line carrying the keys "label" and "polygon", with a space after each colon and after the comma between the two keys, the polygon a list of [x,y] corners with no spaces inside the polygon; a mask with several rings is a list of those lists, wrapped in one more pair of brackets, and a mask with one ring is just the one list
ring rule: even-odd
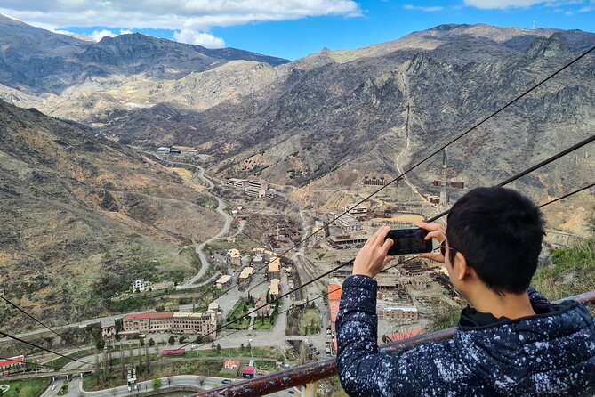
{"label": "short black hair of the boy taking a photo", "polygon": [[519,192],[477,188],[451,208],[446,239],[496,294],[520,294],[537,269],[543,224],[539,208]]}

